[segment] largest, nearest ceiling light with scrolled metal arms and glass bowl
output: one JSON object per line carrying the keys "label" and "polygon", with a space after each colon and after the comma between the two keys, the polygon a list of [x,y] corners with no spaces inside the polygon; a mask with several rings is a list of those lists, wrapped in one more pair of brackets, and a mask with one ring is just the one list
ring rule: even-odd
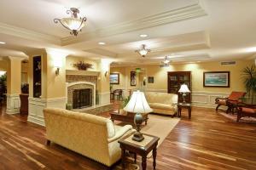
{"label": "largest, nearest ceiling light with scrolled metal arms and glass bowl", "polygon": [[62,18],[62,19],[55,19],[54,22],[60,22],[62,26],[70,30],[70,34],[77,36],[79,31],[84,27],[84,22],[86,21],[86,17],[79,18],[79,9],[78,8],[70,8],[67,10],[67,14],[71,14],[70,18]]}

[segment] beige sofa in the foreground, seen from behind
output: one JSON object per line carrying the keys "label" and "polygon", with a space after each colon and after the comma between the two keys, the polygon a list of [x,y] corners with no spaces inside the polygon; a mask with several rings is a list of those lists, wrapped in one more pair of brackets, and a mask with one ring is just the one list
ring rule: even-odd
{"label": "beige sofa in the foreground, seen from behind", "polygon": [[101,116],[44,109],[46,139],[110,167],[121,157],[118,140],[131,133],[131,125],[119,127]]}

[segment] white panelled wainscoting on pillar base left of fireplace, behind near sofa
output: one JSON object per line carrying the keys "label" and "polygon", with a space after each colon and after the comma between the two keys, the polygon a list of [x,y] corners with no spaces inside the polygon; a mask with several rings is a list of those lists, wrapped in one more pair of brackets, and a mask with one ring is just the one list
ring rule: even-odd
{"label": "white panelled wainscoting on pillar base left of fireplace, behind near sofa", "polygon": [[44,113],[43,110],[46,107],[55,108],[66,108],[67,98],[54,98],[54,99],[39,99],[39,98],[28,98],[28,122],[33,122],[41,126],[44,124]]}

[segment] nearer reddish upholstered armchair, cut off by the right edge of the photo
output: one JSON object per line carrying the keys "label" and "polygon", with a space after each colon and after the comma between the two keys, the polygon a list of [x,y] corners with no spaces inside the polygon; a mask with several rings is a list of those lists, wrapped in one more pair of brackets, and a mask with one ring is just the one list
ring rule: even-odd
{"label": "nearer reddish upholstered armchair, cut off by the right edge of the photo", "polygon": [[239,122],[241,117],[244,116],[256,117],[256,105],[239,104],[237,107],[238,111],[236,122]]}

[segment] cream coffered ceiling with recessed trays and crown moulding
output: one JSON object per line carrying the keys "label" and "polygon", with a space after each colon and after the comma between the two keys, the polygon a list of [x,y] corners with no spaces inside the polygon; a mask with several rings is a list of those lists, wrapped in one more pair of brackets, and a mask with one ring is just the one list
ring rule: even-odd
{"label": "cream coffered ceiling with recessed trays and crown moulding", "polygon": [[[15,5],[14,5],[15,4]],[[253,0],[1,0],[0,57],[24,57],[37,48],[67,50],[113,65],[253,58]],[[79,8],[87,21],[78,37],[56,25]],[[146,34],[148,37],[140,37]],[[98,42],[105,42],[99,45]],[[135,50],[146,44],[145,58]]]}

